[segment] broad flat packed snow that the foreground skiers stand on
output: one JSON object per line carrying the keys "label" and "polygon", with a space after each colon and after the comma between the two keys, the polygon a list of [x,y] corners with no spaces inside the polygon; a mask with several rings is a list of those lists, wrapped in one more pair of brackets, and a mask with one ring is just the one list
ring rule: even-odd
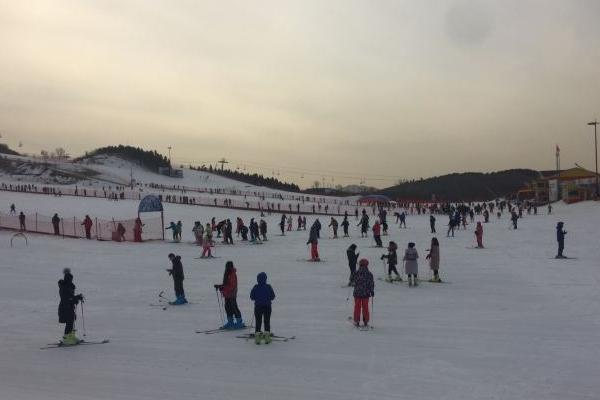
{"label": "broad flat packed snow that the foreground skiers stand on", "polygon": [[[51,215],[135,216],[137,202],[0,193],[10,203]],[[184,222],[182,243],[113,243],[29,235],[29,245],[0,231],[0,398],[32,399],[598,399],[600,398],[600,205],[556,205],[553,215],[525,215],[519,229],[508,216],[484,224],[486,249],[476,250],[474,224],[446,238],[438,216],[442,284],[419,287],[376,280],[372,324],[356,330],[345,250],[358,245],[376,277],[382,249],[371,237],[329,239],[321,217],[323,263],[308,263],[307,232],[278,236],[279,215],[268,216],[261,246],[218,245],[213,260],[194,259],[193,221],[244,218],[235,210],[167,204],[165,220]],[[315,217],[308,216],[308,226]],[[374,218],[372,217],[371,220]],[[555,260],[556,222],[569,232]],[[417,244],[419,272],[432,235],[428,216],[390,216],[384,243]],[[354,225],[357,221],[351,217]],[[235,224],[235,222],[234,222]],[[296,223],[294,222],[294,229]],[[371,235],[369,235],[371,236]],[[234,239],[237,239],[234,235]],[[182,256],[189,305],[151,307],[161,290],[173,296],[167,254]],[[272,330],[289,342],[255,345],[240,332],[195,330],[221,323],[213,284],[232,260],[238,302],[252,322],[248,298],[265,271],[277,298]],[[86,296],[79,335],[110,343],[40,350],[62,335],[57,281],[72,269]],[[350,299],[348,300],[348,297]],[[244,331],[246,332],[246,331]]]}

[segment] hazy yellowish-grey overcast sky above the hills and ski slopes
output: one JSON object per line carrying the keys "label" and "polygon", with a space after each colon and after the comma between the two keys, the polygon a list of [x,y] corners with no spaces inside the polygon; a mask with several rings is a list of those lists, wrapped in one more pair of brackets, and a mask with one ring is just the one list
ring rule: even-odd
{"label": "hazy yellowish-grey overcast sky above the hills and ski slopes", "polygon": [[[0,141],[302,186],[594,167],[596,0],[0,0]],[[304,177],[302,177],[304,172]]]}

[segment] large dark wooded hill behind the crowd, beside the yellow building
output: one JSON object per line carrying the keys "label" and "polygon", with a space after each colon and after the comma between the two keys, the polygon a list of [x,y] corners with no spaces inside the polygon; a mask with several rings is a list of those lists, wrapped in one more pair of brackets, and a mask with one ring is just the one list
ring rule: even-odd
{"label": "large dark wooded hill behind the crowd, beside the yellow building", "polygon": [[525,183],[539,177],[531,169],[481,173],[466,172],[404,182],[378,191],[393,199],[438,201],[492,200],[515,193]]}

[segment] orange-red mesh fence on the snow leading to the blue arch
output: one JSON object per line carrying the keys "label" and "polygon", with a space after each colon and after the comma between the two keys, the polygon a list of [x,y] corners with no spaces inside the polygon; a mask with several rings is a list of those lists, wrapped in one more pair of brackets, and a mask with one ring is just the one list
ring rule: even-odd
{"label": "orange-red mesh fence on the snow leading to the blue arch", "polygon": [[[60,218],[60,217],[59,217]],[[101,219],[92,218],[92,227],[90,229],[90,239],[114,240],[133,242],[134,219]],[[143,218],[142,240],[162,240],[162,221],[160,217]],[[117,234],[117,227],[121,224],[125,228],[125,234],[121,237]],[[10,229],[22,232],[33,232],[48,235],[56,235],[70,238],[85,238],[85,227],[83,219],[78,217],[62,217],[55,231],[52,224],[52,217],[38,213],[25,215],[24,226],[21,226],[18,214],[0,213],[0,229]]]}

